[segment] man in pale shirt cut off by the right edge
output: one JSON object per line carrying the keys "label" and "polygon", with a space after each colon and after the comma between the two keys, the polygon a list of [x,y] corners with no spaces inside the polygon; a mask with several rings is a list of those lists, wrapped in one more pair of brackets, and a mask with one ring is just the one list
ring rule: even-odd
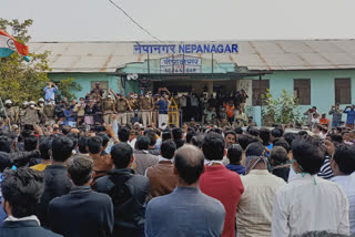
{"label": "man in pale shirt cut off by the right edge", "polygon": [[347,196],[349,204],[351,234],[355,234],[355,147],[339,144],[336,146],[331,161],[334,177],[331,179],[338,184]]}

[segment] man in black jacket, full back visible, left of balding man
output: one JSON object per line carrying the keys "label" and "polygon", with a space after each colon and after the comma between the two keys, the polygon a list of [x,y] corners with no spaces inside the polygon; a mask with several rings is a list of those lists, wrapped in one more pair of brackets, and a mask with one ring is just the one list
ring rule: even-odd
{"label": "man in black jacket, full back visible, left of balding man", "polygon": [[114,213],[113,236],[141,237],[144,235],[145,199],[149,178],[135,175],[131,168],[134,157],[126,143],[111,150],[114,168],[97,181],[94,189],[111,196]]}

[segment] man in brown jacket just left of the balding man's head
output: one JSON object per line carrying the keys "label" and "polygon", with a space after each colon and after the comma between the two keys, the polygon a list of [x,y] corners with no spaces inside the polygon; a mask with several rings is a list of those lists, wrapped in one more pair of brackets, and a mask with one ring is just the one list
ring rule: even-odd
{"label": "man in brown jacket just left of the balding man's head", "polygon": [[149,177],[151,185],[149,199],[170,194],[175,188],[178,177],[174,175],[172,162],[175,150],[176,145],[173,141],[163,142],[158,165],[146,168],[146,177]]}

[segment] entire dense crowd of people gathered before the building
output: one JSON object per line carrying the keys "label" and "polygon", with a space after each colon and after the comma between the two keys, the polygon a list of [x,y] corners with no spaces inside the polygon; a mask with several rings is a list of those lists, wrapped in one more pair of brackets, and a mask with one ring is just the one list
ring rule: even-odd
{"label": "entire dense crowd of people gathered before the building", "polygon": [[[70,107],[55,103],[54,84],[48,90],[44,107]],[[87,114],[80,121],[78,112],[72,121],[52,118],[51,130],[39,118],[0,131],[0,237],[355,235],[354,106],[332,107],[332,126],[312,107],[310,127],[295,132],[257,127],[245,120],[242,101],[226,97],[219,114],[219,106],[204,109],[215,114],[204,113],[203,125],[191,120],[178,127],[161,116],[155,126],[144,107],[153,106],[149,93],[139,100],[143,118],[130,104],[134,93],[102,94],[97,84],[84,109],[102,103],[101,123]],[[161,115],[174,95],[161,89],[156,96]],[[123,123],[131,111],[139,121]],[[343,112],[344,126],[335,120]],[[209,122],[213,115],[224,123]]]}

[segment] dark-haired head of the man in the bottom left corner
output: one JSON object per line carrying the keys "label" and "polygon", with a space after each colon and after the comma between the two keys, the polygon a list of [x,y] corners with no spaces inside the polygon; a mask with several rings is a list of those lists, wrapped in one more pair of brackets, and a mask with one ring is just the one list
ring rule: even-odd
{"label": "dark-haired head of the man in the bottom left corner", "polygon": [[11,206],[11,215],[22,218],[36,214],[36,204],[44,190],[44,176],[28,167],[7,169],[1,182],[2,202]]}

